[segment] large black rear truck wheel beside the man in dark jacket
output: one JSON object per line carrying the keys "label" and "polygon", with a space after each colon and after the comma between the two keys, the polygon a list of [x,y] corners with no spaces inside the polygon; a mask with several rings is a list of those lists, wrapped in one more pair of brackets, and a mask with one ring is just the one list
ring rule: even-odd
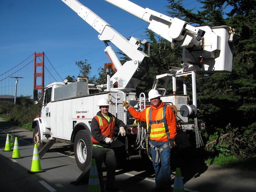
{"label": "large black rear truck wheel beside the man in dark jacket", "polygon": [[87,130],[80,130],[75,136],[74,153],[76,164],[81,171],[91,165],[92,144]]}

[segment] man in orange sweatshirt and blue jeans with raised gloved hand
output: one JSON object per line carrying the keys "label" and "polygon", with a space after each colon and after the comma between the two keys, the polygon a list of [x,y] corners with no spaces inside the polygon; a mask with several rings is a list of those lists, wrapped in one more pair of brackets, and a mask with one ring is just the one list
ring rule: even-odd
{"label": "man in orange sweatshirt and blue jeans with raised gloved hand", "polygon": [[149,101],[151,106],[138,112],[126,101],[123,106],[137,121],[145,121],[150,137],[150,150],[155,170],[156,187],[153,191],[171,190],[171,148],[176,146],[174,138],[176,132],[176,118],[174,111],[169,105],[160,100],[157,90],[149,91]]}

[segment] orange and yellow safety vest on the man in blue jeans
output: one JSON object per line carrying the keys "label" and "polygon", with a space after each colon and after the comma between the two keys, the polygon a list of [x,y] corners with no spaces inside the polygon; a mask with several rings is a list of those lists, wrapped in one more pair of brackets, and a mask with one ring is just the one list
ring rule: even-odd
{"label": "orange and yellow safety vest on the man in blue jeans", "polygon": [[151,113],[152,108],[151,106],[146,108],[146,124],[147,124],[147,131],[150,135],[151,140],[155,140],[158,142],[165,142],[169,139],[169,126],[167,125],[165,119],[165,112],[166,112],[167,105],[165,104],[162,108],[158,109],[154,120],[152,120]]}

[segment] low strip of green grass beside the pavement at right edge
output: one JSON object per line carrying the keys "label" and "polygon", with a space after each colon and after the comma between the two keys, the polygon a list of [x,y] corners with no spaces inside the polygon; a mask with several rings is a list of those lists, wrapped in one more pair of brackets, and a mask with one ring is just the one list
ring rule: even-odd
{"label": "low strip of green grass beside the pavement at right edge", "polygon": [[256,171],[256,157],[250,159],[238,159],[235,156],[225,157],[223,155],[219,155],[214,158],[207,159],[205,163],[207,165],[220,165],[223,167]]}

